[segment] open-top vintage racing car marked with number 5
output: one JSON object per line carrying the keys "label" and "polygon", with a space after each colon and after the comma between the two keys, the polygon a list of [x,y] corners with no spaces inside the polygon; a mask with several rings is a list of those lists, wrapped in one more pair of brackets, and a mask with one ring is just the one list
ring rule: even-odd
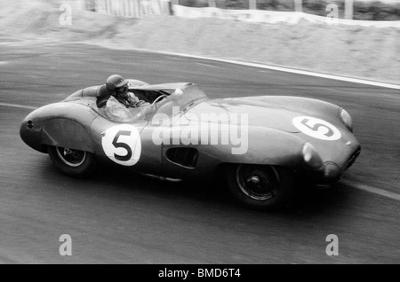
{"label": "open-top vintage racing car marked with number 5", "polygon": [[129,80],[146,103],[110,118],[106,85],[78,90],[36,109],[20,137],[48,153],[68,176],[99,164],[170,179],[223,179],[237,200],[277,208],[299,183],[329,185],[356,161],[361,146],[340,106],[312,98],[206,96],[195,83]]}

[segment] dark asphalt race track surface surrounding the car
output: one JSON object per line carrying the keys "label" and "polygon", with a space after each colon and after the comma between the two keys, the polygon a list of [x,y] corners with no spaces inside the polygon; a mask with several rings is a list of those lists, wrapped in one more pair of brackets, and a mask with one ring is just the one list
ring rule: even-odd
{"label": "dark asphalt race track surface surrounding the car", "polygon": [[[149,83],[196,82],[210,97],[322,98],[353,115],[363,153],[330,191],[299,194],[290,208],[258,212],[224,187],[165,183],[100,168],[63,176],[23,144],[31,108],[103,83],[109,74]],[[398,90],[201,59],[83,44],[0,44],[0,262],[399,263]],[[369,187],[370,192],[361,190]],[[367,189],[366,189],[367,190]],[[60,256],[60,236],[72,256]],[[329,234],[339,255],[328,256]]]}

